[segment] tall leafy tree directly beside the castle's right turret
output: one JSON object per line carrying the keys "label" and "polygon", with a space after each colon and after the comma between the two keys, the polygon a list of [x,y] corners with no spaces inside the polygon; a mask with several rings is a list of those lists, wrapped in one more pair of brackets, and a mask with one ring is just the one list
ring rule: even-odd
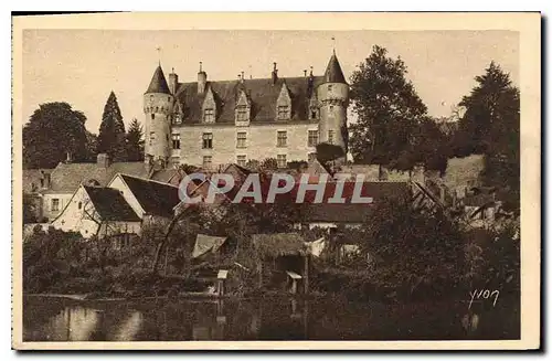
{"label": "tall leafy tree directly beside the castle's right turret", "polygon": [[386,54],[384,47],[374,45],[351,76],[358,123],[351,125],[349,148],[355,162],[412,169],[412,162],[400,164],[399,158],[413,151],[412,134],[427,108],[406,79],[404,62]]}

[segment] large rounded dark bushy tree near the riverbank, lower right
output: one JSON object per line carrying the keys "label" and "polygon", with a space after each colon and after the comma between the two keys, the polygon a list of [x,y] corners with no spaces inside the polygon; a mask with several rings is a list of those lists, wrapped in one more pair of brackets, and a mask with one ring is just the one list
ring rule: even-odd
{"label": "large rounded dark bushy tree near the riverbank, lower right", "polygon": [[415,211],[407,199],[388,199],[374,206],[362,226],[367,241],[361,248],[374,262],[379,287],[408,298],[445,295],[463,286],[468,270],[466,237],[455,219],[440,210]]}

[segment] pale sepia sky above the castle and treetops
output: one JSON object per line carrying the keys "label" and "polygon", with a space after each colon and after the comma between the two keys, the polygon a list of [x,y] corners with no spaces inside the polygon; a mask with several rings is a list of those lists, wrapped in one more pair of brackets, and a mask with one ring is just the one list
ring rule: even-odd
{"label": "pale sepia sky above the castle and treetops", "polygon": [[491,61],[519,85],[519,34],[511,31],[25,30],[23,121],[40,104],[66,102],[97,134],[113,91],[127,127],[132,118],[142,123],[159,61],[180,82],[197,81],[200,61],[210,81],[237,79],[242,71],[246,79],[269,77],[273,62],[280,77],[310,66],[321,75],[335,49],[349,79],[376,44],[401,56],[431,116],[449,116]]}

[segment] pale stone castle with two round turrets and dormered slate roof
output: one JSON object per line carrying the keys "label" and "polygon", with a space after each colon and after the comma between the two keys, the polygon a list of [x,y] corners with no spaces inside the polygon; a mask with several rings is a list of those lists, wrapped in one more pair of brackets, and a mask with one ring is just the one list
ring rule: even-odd
{"label": "pale stone castle with two round turrets and dormered slate roof", "polygon": [[316,146],[332,144],[347,151],[349,85],[336,56],[323,76],[278,77],[274,63],[268,78],[169,81],[159,65],[144,94],[145,161],[162,167],[217,164],[274,158],[312,160]]}

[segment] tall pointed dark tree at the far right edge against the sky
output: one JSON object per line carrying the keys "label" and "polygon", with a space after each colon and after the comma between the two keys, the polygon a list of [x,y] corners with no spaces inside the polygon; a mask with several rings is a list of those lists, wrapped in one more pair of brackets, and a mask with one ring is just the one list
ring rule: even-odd
{"label": "tall pointed dark tree at the far right edge against the sky", "polygon": [[453,148],[457,156],[484,155],[484,184],[496,187],[505,208],[519,211],[520,202],[520,95],[510,76],[491,62],[460,106]]}

